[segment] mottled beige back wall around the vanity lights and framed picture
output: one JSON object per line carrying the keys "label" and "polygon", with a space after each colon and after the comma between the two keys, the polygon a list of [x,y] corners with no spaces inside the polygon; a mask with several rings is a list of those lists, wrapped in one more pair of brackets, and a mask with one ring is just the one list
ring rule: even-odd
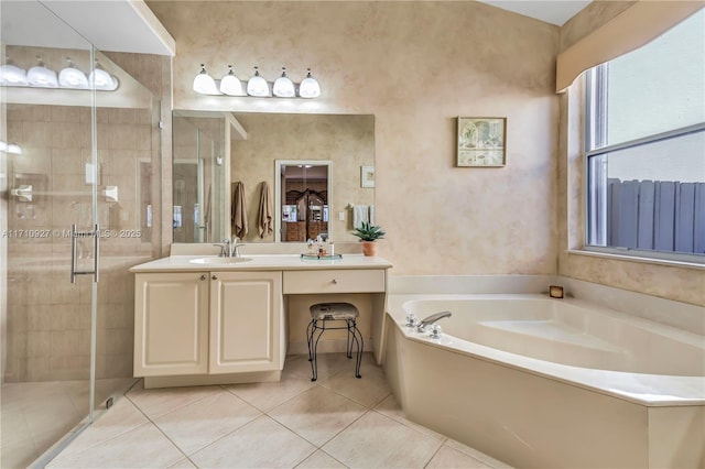
{"label": "mottled beige back wall around the vanity lights and framed picture", "polygon": [[[477,2],[148,2],[174,36],[174,108],[371,113],[392,274],[556,273],[557,26]],[[204,97],[254,65],[319,99]],[[454,167],[456,117],[507,117],[508,165]]]}

